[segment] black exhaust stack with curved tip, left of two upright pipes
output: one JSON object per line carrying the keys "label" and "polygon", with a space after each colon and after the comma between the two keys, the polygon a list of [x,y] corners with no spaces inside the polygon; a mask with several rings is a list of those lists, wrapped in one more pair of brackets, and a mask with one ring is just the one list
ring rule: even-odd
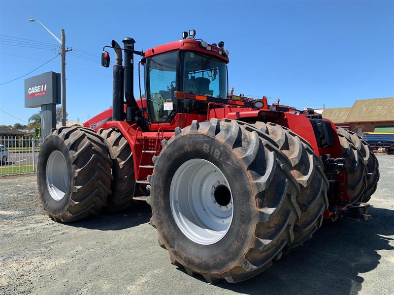
{"label": "black exhaust stack with curved tip, left of two upright pipes", "polygon": [[112,74],[112,120],[123,121],[123,89],[125,80],[122,65],[122,49],[115,40],[112,40],[111,45],[115,50],[115,65],[113,66]]}

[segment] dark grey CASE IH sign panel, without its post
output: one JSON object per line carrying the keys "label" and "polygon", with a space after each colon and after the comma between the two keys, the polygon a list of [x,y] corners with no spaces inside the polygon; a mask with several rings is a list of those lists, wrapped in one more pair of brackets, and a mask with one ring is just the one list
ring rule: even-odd
{"label": "dark grey CASE IH sign panel, without its post", "polygon": [[60,74],[47,72],[25,80],[25,107],[60,104]]}

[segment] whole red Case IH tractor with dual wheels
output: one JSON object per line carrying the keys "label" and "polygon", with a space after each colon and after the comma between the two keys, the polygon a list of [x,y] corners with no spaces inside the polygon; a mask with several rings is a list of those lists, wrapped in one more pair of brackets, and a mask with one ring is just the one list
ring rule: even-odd
{"label": "whole red Case IH tractor with dual wheels", "polygon": [[[365,141],[313,110],[228,95],[224,42],[195,34],[146,52],[112,41],[112,109],[53,130],[40,148],[49,216],[70,222],[146,200],[171,262],[212,283],[255,276],[324,219],[370,218],[379,171]],[[109,66],[108,52],[101,61]]]}

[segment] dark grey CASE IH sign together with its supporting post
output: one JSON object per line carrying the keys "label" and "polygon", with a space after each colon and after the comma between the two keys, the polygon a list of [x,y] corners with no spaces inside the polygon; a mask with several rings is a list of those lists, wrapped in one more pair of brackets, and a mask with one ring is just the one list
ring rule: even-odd
{"label": "dark grey CASE IH sign together with its supporting post", "polygon": [[60,74],[46,72],[25,79],[25,108],[41,107],[41,137],[56,128],[56,105],[60,99]]}

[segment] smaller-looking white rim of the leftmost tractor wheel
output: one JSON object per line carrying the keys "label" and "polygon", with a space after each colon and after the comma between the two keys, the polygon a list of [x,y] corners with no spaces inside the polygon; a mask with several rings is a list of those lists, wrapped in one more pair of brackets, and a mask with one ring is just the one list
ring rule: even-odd
{"label": "smaller-looking white rim of the leftmost tractor wheel", "polygon": [[66,159],[59,150],[55,150],[49,155],[45,177],[52,199],[56,201],[62,200],[66,195],[68,186],[68,170]]}

